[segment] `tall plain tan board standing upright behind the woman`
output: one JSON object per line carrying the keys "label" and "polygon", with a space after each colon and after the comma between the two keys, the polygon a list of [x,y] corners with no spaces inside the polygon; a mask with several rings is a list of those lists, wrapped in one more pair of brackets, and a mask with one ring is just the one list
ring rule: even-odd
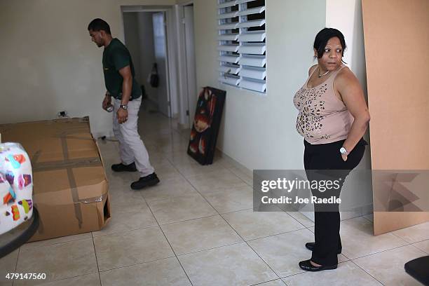
{"label": "tall plain tan board standing upright behind the woman", "polygon": [[[362,0],[362,11],[372,170],[428,170],[429,1]],[[428,212],[375,212],[374,233],[428,220]]]}

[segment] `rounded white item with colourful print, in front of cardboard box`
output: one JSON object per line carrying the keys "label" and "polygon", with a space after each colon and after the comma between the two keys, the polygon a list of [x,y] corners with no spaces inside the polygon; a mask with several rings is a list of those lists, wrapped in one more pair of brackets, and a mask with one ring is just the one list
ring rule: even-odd
{"label": "rounded white item with colourful print, in front of cardboard box", "polygon": [[32,164],[18,143],[0,144],[0,234],[33,214]]}

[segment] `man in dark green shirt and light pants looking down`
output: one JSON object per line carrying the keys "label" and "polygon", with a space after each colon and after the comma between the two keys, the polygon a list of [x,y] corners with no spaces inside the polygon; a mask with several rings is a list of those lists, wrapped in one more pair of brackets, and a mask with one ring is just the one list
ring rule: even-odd
{"label": "man in dark green shirt and light pants looking down", "polygon": [[[104,82],[107,92],[102,107],[113,105],[113,130],[119,141],[121,163],[111,165],[115,172],[139,171],[140,179],[132,182],[131,189],[143,189],[158,184],[159,179],[149,162],[149,154],[137,131],[137,119],[142,104],[142,93],[135,80],[135,71],[128,49],[111,36],[110,27],[102,19],[88,25],[93,42],[103,51]],[[113,104],[112,98],[113,97]]]}

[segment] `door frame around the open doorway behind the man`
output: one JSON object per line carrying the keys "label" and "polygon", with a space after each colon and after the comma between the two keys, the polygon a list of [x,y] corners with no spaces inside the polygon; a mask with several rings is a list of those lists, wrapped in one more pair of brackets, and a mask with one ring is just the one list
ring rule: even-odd
{"label": "door frame around the open doorway behind the man", "polygon": [[177,41],[175,40],[174,25],[175,25],[175,15],[173,13],[173,6],[135,6],[135,5],[121,5],[121,25],[122,25],[122,34],[125,42],[125,26],[123,24],[123,14],[124,13],[139,13],[139,12],[163,12],[165,14],[165,38],[167,41],[167,60],[165,62],[165,70],[167,71],[168,76],[166,76],[167,81],[167,105],[168,105],[168,117],[175,118],[177,114],[175,111],[178,109],[178,97],[177,93],[177,80],[175,75],[175,70],[177,70],[176,62],[177,55],[175,49],[177,48]]}

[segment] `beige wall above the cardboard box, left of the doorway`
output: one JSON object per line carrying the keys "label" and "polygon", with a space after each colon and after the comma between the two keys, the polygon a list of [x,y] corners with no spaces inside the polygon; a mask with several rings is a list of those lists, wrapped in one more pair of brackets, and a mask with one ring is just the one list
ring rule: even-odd
{"label": "beige wall above the cardboard box, left of the doorway", "polygon": [[0,1],[0,123],[89,115],[95,137],[111,135],[101,108],[102,48],[88,23],[103,18],[123,41],[121,5],[173,5],[175,0]]}

